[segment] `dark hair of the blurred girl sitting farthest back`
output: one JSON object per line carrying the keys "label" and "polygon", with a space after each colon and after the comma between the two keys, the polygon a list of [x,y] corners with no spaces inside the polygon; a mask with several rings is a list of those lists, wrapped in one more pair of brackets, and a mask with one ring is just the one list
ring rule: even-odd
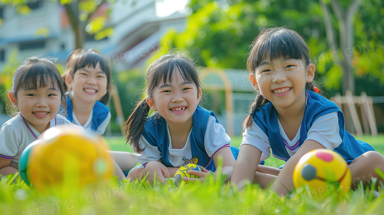
{"label": "dark hair of the blurred girl sitting farthest back", "polygon": [[67,63],[66,63],[66,70],[62,75],[63,82],[64,82],[64,90],[68,91],[67,86],[65,85],[65,77],[67,75],[70,75],[73,79],[75,72],[78,69],[84,68],[86,66],[90,66],[92,68],[96,68],[97,63],[100,65],[100,69],[105,72],[107,76],[107,93],[99,99],[100,102],[103,104],[108,104],[109,97],[110,97],[110,88],[111,88],[111,70],[109,68],[108,62],[105,60],[105,58],[96,50],[89,49],[88,51],[84,49],[76,49],[69,53],[69,55],[66,57]]}

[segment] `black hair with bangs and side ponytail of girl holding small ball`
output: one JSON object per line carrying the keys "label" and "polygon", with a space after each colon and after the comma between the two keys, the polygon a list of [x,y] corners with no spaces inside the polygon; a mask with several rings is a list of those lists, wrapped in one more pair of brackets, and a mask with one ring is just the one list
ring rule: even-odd
{"label": "black hair with bangs and side ponytail of girl holding small ball", "polygon": [[143,93],[146,98],[139,99],[136,102],[132,114],[129,116],[124,131],[127,135],[127,143],[137,153],[144,151],[140,148],[139,139],[144,131],[144,124],[147,122],[150,107],[146,99],[152,98],[153,90],[159,86],[160,82],[166,80],[171,83],[173,72],[180,72],[185,81],[194,83],[197,87],[197,92],[201,89],[201,80],[199,78],[194,61],[187,57],[186,53],[172,52],[161,56],[155,60],[149,67],[145,76],[146,85]]}

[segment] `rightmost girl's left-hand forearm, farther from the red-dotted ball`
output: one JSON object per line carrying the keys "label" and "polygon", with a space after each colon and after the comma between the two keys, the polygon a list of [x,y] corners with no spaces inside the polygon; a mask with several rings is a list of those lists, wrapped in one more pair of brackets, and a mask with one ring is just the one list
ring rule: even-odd
{"label": "rightmost girl's left-hand forearm, farther from the red-dotted ball", "polygon": [[253,182],[261,151],[251,145],[242,145],[233,167],[231,185],[239,184],[243,180]]}

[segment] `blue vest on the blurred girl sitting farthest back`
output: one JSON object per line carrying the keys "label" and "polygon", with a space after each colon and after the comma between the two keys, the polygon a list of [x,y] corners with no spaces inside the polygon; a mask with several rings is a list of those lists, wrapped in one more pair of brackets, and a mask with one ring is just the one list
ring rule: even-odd
{"label": "blue vest on the blurred girl sitting farthest back", "polygon": [[[92,123],[91,123],[91,128],[92,130],[97,130],[98,126],[104,122],[105,118],[107,118],[109,109],[107,106],[105,106],[103,103],[100,101],[96,101],[94,107],[92,108]],[[72,101],[69,98],[69,95],[66,97],[66,119],[69,122],[73,122],[73,117],[72,117]]]}

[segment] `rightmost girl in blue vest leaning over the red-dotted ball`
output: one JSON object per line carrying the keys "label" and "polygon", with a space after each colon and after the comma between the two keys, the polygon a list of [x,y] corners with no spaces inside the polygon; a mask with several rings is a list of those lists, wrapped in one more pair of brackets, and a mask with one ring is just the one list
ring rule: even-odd
{"label": "rightmost girl in blue vest leaning over the red-dotted ball", "polygon": [[[384,157],[344,129],[338,106],[321,96],[313,84],[315,65],[309,48],[295,31],[264,29],[252,43],[247,60],[249,79],[260,91],[243,123],[243,141],[231,184],[254,181],[259,160],[272,155],[287,161],[271,189],[281,195],[293,186],[293,169],[301,156],[314,149],[339,153],[349,164],[352,186],[384,170]],[[379,182],[377,183],[379,184]]]}

